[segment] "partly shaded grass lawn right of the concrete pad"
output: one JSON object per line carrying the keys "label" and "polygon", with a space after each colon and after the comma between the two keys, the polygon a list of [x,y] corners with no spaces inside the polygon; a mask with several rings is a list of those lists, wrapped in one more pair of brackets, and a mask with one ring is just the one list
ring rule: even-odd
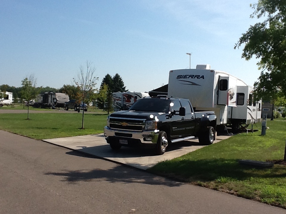
{"label": "partly shaded grass lawn right of the concrete pad", "polygon": [[[257,126],[260,128],[261,124]],[[158,163],[150,172],[286,208],[286,166],[254,169],[238,163],[239,159],[283,159],[286,119],[268,120],[267,126],[270,129],[265,136],[260,136],[261,130],[237,134],[179,158]]]}

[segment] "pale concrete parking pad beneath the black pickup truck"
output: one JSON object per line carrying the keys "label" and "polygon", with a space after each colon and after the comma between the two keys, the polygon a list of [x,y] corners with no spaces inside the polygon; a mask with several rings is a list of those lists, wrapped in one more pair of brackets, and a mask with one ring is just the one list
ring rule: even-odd
{"label": "pale concrete parking pad beneath the black pickup truck", "polygon": [[[229,137],[223,135],[216,136],[214,143],[228,139]],[[142,148],[121,147],[119,151],[114,151],[106,143],[103,134],[44,139],[43,141],[144,170],[156,165],[160,161],[177,158],[205,147],[199,145],[198,139],[192,139],[169,145],[164,155],[154,155],[152,150]]]}

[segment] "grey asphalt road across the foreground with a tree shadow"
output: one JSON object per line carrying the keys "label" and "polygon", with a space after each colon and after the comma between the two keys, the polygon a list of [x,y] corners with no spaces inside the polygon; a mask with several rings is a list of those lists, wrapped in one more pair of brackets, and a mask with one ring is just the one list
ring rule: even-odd
{"label": "grey asphalt road across the foreground with a tree shadow", "polygon": [[0,130],[0,213],[286,213]]}

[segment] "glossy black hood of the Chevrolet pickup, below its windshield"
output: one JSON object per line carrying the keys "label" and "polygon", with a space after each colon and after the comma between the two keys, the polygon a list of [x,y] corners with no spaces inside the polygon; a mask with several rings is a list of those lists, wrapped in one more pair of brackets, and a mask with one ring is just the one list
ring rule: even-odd
{"label": "glossy black hood of the Chevrolet pickup, below its windshield", "polygon": [[138,119],[153,119],[150,118],[150,115],[154,117],[159,117],[160,115],[164,115],[166,113],[162,112],[152,112],[152,111],[116,111],[110,115],[110,117],[123,117],[123,118],[138,118]]}

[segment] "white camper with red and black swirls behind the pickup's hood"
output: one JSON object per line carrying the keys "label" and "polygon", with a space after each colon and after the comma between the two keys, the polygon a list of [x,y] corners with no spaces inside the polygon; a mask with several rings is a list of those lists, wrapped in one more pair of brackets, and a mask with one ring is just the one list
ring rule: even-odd
{"label": "white camper with red and black swirls behind the pickup's hood", "polygon": [[142,92],[114,92],[112,96],[114,111],[121,111],[128,110],[133,103],[143,97],[148,97],[149,94]]}

